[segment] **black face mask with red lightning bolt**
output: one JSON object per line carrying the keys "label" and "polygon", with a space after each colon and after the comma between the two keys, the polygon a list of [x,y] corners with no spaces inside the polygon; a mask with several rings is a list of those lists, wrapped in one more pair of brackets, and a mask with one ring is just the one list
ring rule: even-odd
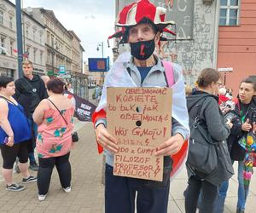
{"label": "black face mask with red lightning bolt", "polygon": [[131,55],[137,60],[147,60],[154,53],[154,38],[149,41],[130,43]]}

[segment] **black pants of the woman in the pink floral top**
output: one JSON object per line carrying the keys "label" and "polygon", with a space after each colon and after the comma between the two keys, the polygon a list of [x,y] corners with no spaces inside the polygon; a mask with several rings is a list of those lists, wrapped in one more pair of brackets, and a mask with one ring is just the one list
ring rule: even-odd
{"label": "black pants of the woman in the pink floral top", "polygon": [[50,177],[55,166],[59,174],[61,187],[70,187],[71,165],[68,158],[69,153],[55,158],[38,158],[38,194],[44,195],[48,193]]}

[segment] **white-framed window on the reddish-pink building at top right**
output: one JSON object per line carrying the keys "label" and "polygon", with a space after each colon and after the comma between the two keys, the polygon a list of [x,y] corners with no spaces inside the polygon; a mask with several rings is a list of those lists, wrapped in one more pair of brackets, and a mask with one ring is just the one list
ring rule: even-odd
{"label": "white-framed window on the reddish-pink building at top right", "polygon": [[[241,0],[237,0],[237,6],[230,5],[230,0],[227,0],[226,5],[221,5],[219,3],[219,20],[218,20],[218,26],[239,26],[240,25],[240,10],[241,10]],[[220,10],[225,9],[226,10],[226,16],[225,16],[225,24],[220,24]],[[236,14],[236,24],[235,25],[230,25],[230,9],[236,9],[237,14]]]}

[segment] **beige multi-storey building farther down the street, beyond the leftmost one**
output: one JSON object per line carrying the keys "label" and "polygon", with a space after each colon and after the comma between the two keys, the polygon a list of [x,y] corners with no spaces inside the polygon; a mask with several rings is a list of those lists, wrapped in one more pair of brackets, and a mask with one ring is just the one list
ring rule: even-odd
{"label": "beige multi-storey building farther down the street, beyond the leftmost one", "polygon": [[[79,37],[68,31],[57,20],[52,10],[43,8],[26,9],[27,13],[45,26],[46,70],[72,83],[75,95],[88,97],[88,78],[83,73],[83,52]],[[62,74],[60,71],[62,70]]]}

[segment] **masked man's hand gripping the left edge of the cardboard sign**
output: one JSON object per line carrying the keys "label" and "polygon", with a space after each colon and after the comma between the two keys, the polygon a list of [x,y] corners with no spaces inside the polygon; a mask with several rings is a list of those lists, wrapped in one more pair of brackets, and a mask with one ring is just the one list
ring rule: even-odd
{"label": "masked man's hand gripping the left edge of the cardboard sign", "polygon": [[102,145],[103,148],[108,149],[111,153],[117,153],[119,146],[113,135],[110,135],[103,124],[99,124],[95,130],[96,141]]}

